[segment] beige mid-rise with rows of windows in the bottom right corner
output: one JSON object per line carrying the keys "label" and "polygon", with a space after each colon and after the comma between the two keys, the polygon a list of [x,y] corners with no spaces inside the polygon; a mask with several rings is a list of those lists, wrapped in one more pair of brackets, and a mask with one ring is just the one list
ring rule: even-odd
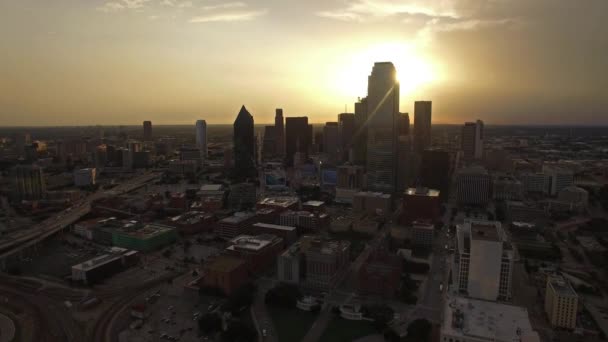
{"label": "beige mid-rise with rows of windows in the bottom right corner", "polygon": [[578,295],[570,283],[562,276],[550,275],[545,292],[545,313],[551,326],[569,330],[576,328]]}

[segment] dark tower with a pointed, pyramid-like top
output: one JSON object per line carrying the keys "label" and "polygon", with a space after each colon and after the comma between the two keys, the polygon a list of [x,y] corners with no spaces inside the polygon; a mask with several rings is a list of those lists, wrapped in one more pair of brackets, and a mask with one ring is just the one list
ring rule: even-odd
{"label": "dark tower with a pointed, pyramid-like top", "polygon": [[255,134],[253,116],[245,106],[234,120],[234,175],[245,179],[255,174]]}

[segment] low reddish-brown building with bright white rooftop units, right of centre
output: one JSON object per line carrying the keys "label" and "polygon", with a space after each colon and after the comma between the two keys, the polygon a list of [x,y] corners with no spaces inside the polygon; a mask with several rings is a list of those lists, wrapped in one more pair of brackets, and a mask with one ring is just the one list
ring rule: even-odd
{"label": "low reddish-brown building with bright white rooftop units, right of centre", "polygon": [[440,192],[424,187],[408,188],[403,193],[401,223],[411,224],[416,220],[435,221],[440,216]]}

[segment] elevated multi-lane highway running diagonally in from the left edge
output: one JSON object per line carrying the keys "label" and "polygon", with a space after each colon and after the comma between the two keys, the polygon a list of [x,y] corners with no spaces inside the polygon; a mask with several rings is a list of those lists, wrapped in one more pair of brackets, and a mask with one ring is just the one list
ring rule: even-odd
{"label": "elevated multi-lane highway running diagonally in from the left edge", "polygon": [[44,241],[49,236],[65,229],[88,214],[91,211],[91,203],[94,201],[129,193],[145,186],[148,182],[158,177],[160,177],[159,173],[145,173],[136,176],[125,183],[117,185],[113,189],[89,195],[85,199],[74,203],[71,207],[40,222],[31,229],[16,231],[3,236],[0,239],[0,262],[2,263],[2,268],[5,268],[6,258]]}

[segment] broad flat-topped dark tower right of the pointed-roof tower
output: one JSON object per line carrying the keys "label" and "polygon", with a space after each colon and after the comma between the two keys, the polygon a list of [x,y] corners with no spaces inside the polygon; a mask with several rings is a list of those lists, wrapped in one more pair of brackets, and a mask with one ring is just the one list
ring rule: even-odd
{"label": "broad flat-topped dark tower right of the pointed-roof tower", "polygon": [[308,117],[292,117],[285,119],[285,160],[287,166],[293,166],[293,156],[301,153],[308,159],[308,152],[312,145],[312,126],[308,124]]}

